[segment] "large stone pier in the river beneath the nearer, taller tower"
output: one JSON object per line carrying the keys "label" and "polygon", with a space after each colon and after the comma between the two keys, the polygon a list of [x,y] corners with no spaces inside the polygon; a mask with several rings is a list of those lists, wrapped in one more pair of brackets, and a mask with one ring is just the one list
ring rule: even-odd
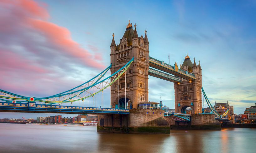
{"label": "large stone pier in the river beneath the nearer, taller tower", "polygon": [[99,115],[98,132],[170,134],[170,123],[160,109],[131,109],[129,115]]}

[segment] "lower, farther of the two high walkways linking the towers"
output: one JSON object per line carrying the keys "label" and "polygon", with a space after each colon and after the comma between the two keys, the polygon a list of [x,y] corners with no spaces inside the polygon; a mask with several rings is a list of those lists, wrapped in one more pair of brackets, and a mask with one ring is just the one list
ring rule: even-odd
{"label": "lower, farther of the two high walkways linking the towers", "polygon": [[149,76],[157,77],[157,78],[167,80],[167,81],[170,81],[170,82],[180,82],[179,77],[175,77],[175,76],[172,76],[170,74],[160,72],[160,71],[152,69],[152,68],[149,68]]}

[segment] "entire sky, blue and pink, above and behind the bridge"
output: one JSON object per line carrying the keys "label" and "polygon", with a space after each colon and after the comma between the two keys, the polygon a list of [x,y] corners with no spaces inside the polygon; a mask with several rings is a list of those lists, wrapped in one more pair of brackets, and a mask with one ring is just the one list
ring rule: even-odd
{"label": "entire sky, blue and pink, above and behind the bridge", "polygon": [[[151,57],[200,60],[211,103],[228,101],[241,114],[256,103],[255,14],[256,1],[0,0],[0,89],[42,97],[86,82],[110,64],[112,33],[118,44],[130,20],[139,36],[147,29]],[[174,108],[173,83],[149,76],[149,100],[160,96]]]}

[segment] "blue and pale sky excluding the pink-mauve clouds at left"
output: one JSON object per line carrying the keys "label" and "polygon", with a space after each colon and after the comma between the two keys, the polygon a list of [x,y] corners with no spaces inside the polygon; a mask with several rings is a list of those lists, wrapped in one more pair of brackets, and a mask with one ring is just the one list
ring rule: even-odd
{"label": "blue and pale sky excluding the pink-mauve clouds at left", "polygon": [[[170,54],[171,65],[180,63],[180,60],[183,62],[186,53],[191,60],[194,57],[197,63],[200,60],[203,87],[212,103],[228,100],[230,105],[234,105],[234,112],[237,114],[256,103],[255,1],[37,0],[36,3],[48,14],[42,20],[66,28],[82,51],[91,53],[95,61],[105,67],[110,64],[112,33],[115,33],[115,41],[119,43],[130,19],[133,25],[136,23],[139,36],[144,36],[147,29],[150,56],[169,62]],[[39,36],[41,37],[40,34]],[[24,47],[15,41],[12,44]],[[16,52],[15,49],[17,48],[10,50]],[[97,56],[100,57],[96,58]],[[37,54],[37,57],[26,58],[37,62],[35,59],[48,57]],[[50,82],[50,86],[42,85],[43,91],[32,90],[37,89],[37,86],[31,86],[28,91],[8,86],[1,88],[23,95],[47,96],[52,92],[63,91],[63,88],[76,86],[101,72],[98,67],[74,61],[75,58],[72,58],[61,65],[59,62],[51,62],[49,65],[36,63],[38,67],[55,72],[42,73],[34,78],[33,81],[39,85],[44,84],[44,81]],[[64,72],[67,73],[64,75]],[[63,74],[61,82],[49,77],[59,74]],[[18,80],[17,77],[8,77],[5,82],[13,84]],[[22,86],[22,82],[27,85],[27,80],[23,78],[19,85]],[[107,93],[109,90],[104,96],[104,106],[110,106],[110,94]],[[149,76],[149,100],[159,101],[160,95],[165,105],[174,108],[173,83]],[[39,115],[49,114],[0,113],[0,118]]]}

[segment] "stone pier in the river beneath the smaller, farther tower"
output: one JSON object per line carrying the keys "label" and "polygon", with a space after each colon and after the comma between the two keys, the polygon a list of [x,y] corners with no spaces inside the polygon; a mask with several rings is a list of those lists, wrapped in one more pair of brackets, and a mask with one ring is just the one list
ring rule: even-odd
{"label": "stone pier in the river beneath the smaller, farther tower", "polygon": [[214,114],[192,114],[191,129],[193,130],[221,130],[221,123],[215,120]]}

